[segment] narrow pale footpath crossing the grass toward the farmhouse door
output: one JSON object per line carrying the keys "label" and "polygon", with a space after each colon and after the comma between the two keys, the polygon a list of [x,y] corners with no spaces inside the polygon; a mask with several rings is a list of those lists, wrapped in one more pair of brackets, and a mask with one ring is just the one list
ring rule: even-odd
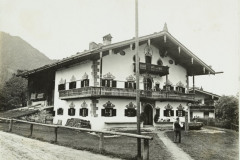
{"label": "narrow pale footpath crossing the grass toward the farmhouse door", "polygon": [[179,148],[175,143],[173,143],[164,131],[156,131],[160,140],[163,141],[168,151],[173,155],[175,160],[193,160],[187,153],[185,153],[181,148]]}

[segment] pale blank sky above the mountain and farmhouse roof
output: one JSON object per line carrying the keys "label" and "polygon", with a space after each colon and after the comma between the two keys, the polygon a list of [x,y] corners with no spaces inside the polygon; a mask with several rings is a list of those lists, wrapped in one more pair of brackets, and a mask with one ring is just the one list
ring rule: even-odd
{"label": "pale blank sky above the mountain and farmhouse roof", "polygon": [[[168,31],[223,74],[195,77],[219,95],[239,92],[239,0],[139,0],[139,36]],[[51,59],[135,36],[135,0],[0,0],[0,31],[19,36]],[[191,80],[191,78],[190,78]]]}

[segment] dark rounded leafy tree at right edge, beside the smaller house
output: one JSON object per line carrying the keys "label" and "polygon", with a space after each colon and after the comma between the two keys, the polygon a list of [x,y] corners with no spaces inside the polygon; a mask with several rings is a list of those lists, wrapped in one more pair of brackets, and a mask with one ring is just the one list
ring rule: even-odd
{"label": "dark rounded leafy tree at right edge, beside the smaller house", "polygon": [[222,96],[216,104],[216,118],[238,124],[238,105],[238,97]]}

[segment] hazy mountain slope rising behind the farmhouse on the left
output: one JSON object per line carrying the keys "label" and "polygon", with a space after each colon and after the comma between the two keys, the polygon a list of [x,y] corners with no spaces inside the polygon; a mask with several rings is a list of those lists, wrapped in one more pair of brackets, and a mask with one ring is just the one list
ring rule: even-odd
{"label": "hazy mountain slope rising behind the farmhouse on the left", "polygon": [[17,36],[0,32],[0,87],[13,73],[54,62]]}

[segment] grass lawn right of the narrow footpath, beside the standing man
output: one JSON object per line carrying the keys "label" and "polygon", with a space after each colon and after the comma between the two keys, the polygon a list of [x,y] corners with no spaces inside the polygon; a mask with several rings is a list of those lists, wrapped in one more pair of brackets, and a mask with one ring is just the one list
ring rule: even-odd
{"label": "grass lawn right of the narrow footpath, beside the standing man", "polygon": [[[166,134],[173,139],[173,131]],[[238,142],[238,132],[204,127],[188,134],[182,131],[182,143],[176,144],[195,160],[238,160]]]}

